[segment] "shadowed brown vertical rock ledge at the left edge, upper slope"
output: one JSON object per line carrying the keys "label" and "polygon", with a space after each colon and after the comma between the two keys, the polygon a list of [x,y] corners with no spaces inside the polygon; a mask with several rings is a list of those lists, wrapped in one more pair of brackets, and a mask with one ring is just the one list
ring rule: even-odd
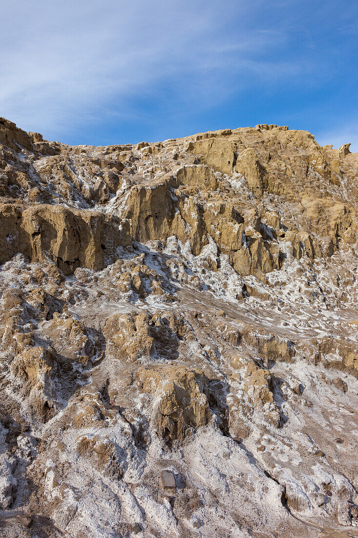
{"label": "shadowed brown vertical rock ledge at the left edge, upper slope", "polygon": [[48,256],[61,271],[71,274],[76,267],[98,270],[104,254],[111,257],[118,246],[132,242],[130,223],[90,211],[62,206],[33,206],[22,210],[10,204],[0,208],[0,261],[17,252],[32,261],[45,263]]}

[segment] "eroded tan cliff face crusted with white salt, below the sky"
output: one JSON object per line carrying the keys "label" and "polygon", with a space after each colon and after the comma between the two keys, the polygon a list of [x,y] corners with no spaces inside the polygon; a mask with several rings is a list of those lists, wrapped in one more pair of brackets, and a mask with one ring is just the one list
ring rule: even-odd
{"label": "eroded tan cliff face crusted with white salt, below the sky", "polygon": [[306,131],[0,119],[0,534],[355,536],[357,202]]}

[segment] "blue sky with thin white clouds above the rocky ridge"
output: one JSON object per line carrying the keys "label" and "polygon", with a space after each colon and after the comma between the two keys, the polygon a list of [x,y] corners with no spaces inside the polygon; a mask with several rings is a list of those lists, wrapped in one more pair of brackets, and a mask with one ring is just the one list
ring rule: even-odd
{"label": "blue sky with thin white clouds above the rocky ridge", "polygon": [[289,125],[358,151],[357,0],[3,2],[0,116],[67,144]]}

